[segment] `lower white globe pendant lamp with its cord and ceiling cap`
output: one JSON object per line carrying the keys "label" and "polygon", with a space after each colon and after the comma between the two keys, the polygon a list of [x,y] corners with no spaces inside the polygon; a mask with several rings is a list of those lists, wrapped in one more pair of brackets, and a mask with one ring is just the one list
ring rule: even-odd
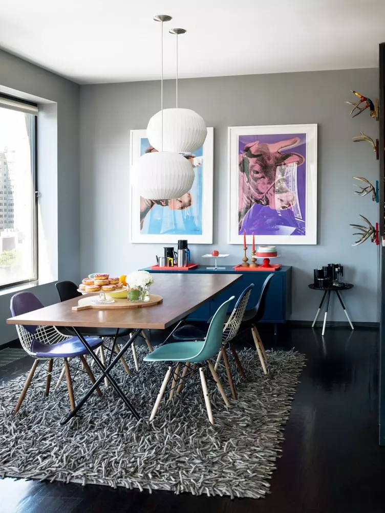
{"label": "lower white globe pendant lamp with its cord and ceiling cap", "polygon": [[[161,22],[161,110],[160,110],[160,142],[159,151],[145,153],[132,166],[131,176],[138,193],[147,200],[172,200],[183,196],[194,183],[194,168],[183,155],[177,152],[163,151],[163,23],[171,16],[159,14],[156,22]],[[148,137],[148,134],[147,134]],[[148,137],[149,139],[149,137]]]}

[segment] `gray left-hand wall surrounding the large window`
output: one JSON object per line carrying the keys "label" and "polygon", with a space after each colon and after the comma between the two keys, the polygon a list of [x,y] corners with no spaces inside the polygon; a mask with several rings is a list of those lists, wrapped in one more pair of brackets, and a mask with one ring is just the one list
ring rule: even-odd
{"label": "gray left-hand wall surrounding the large window", "polygon": [[[57,187],[55,186],[51,191],[51,194],[57,194],[57,202],[52,201],[52,205],[57,203],[57,209],[52,208],[53,218],[57,215],[57,238],[50,236],[46,243],[51,248],[52,245],[57,245],[57,277],[78,280],[80,276],[80,87],[1,50],[0,85],[20,91],[21,94],[27,93],[57,103],[57,127],[54,127],[57,128],[57,169],[53,163],[51,168],[51,173],[57,173]],[[48,138],[45,141],[43,136],[38,144],[43,148],[45,144],[51,145],[52,140],[50,142]],[[45,304],[57,302],[53,284],[33,287],[31,291]],[[9,292],[0,292],[0,344],[17,337],[15,328],[5,323],[6,318],[10,316],[11,295],[12,293]]]}

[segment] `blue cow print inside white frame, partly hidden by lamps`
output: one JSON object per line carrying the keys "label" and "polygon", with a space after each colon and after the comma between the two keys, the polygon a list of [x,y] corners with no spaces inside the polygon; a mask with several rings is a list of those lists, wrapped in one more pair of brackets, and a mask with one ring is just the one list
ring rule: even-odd
{"label": "blue cow print inside white frame, partly hidden by lamps", "polygon": [[[146,137],[140,140],[140,154],[156,151]],[[202,235],[203,230],[203,146],[184,155],[194,167],[191,189],[175,200],[140,199],[142,235]]]}

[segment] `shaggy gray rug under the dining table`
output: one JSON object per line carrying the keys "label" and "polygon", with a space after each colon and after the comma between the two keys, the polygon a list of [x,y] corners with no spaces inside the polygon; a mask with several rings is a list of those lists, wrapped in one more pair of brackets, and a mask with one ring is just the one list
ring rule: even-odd
{"label": "shaggy gray rug under the dining table", "polygon": [[[147,348],[138,347],[142,360]],[[208,381],[215,426],[207,419],[199,373],[181,394],[162,400],[152,424],[148,418],[167,365],[140,361],[129,376],[119,364],[115,378],[143,416],[137,422],[117,394],[104,388],[62,426],[69,411],[65,380],[44,396],[44,381],[32,385],[20,412],[11,416],[25,376],[0,389],[0,476],[34,478],[140,490],[171,490],[233,497],[263,497],[280,455],[304,356],[267,351],[264,376],[253,349],[239,351],[248,381],[233,368],[238,400],[231,399],[223,367],[218,368],[230,407]],[[132,353],[126,357],[134,369]],[[231,361],[232,359],[230,359]],[[231,362],[234,367],[234,362]],[[94,367],[95,370],[95,367]],[[40,374],[44,378],[44,373]],[[86,374],[76,375],[75,400],[89,388]]]}

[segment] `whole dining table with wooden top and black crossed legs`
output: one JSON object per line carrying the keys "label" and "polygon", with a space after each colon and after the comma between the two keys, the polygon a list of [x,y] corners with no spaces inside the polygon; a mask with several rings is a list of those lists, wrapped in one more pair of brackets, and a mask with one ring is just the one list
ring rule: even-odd
{"label": "whole dining table with wooden top and black crossed legs", "polygon": [[[167,329],[176,325],[174,331],[186,317],[212,299],[216,294],[223,292],[234,282],[241,278],[241,274],[187,274],[175,273],[157,275],[155,283],[151,285],[151,293],[161,295],[163,302],[154,306],[132,309],[85,309],[73,310],[78,306],[79,297],[68,301],[56,303],[22,315],[16,315],[7,319],[7,324],[21,324],[29,326],[55,326],[59,331],[70,329],[87,349],[91,358],[101,370],[101,375],[96,379],[85,396],[63,420],[68,422],[80,408],[86,403],[92,393],[98,388],[104,378],[108,378],[112,387],[130,410],[132,415],[140,420],[140,415],[126,394],[111,376],[111,370],[117,365],[128,348],[136,340],[142,329]],[[83,296],[85,297],[85,296]],[[102,363],[97,354],[87,343],[81,333],[81,327],[115,328],[115,341],[119,336],[120,328],[128,328],[130,337],[125,341],[116,356],[109,362]],[[171,331],[171,333],[172,333]],[[68,331],[67,331],[68,334]]]}

